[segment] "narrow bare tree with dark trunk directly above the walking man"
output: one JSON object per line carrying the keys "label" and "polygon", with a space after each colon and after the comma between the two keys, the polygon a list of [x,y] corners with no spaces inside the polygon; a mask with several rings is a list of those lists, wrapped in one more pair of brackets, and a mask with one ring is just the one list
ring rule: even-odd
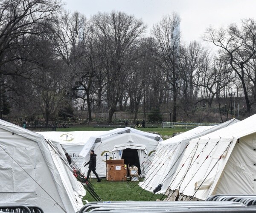
{"label": "narrow bare tree with dark trunk directly above the walking man", "polygon": [[98,109],[100,108],[104,85],[102,84],[99,49],[97,49],[97,30],[94,26],[88,25],[86,32],[76,48],[76,58],[79,59],[76,63],[76,78],[79,79],[76,90],[79,92],[77,98],[86,101],[89,121],[92,121],[92,102],[96,101]]}

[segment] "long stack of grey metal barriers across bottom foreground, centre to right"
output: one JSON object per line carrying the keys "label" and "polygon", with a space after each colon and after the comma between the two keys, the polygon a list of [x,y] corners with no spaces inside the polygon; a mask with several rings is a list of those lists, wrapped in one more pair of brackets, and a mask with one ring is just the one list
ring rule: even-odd
{"label": "long stack of grey metal barriers across bottom foreground, centre to right", "polygon": [[91,202],[84,205],[79,213],[85,212],[135,212],[136,213],[198,213],[198,212],[255,212],[256,207],[247,207],[242,203],[233,201],[110,201],[110,202]]}

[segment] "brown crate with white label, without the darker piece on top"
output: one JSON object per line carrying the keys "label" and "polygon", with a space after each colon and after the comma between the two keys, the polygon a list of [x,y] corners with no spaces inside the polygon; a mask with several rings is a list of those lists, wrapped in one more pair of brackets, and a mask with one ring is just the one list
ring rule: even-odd
{"label": "brown crate with white label, without the darker piece on top", "polygon": [[107,181],[126,181],[126,164],[107,164]]}

